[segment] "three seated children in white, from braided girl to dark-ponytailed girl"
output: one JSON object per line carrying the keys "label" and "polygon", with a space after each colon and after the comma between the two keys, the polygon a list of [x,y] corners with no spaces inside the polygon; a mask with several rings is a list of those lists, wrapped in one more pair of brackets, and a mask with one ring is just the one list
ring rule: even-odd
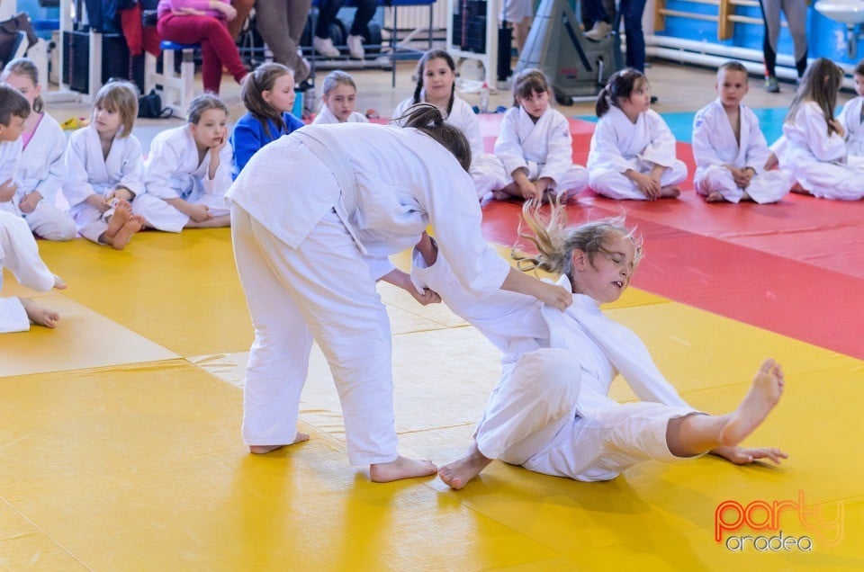
{"label": "three seated children in white, from braided girl to dark-ponytailed girl", "polygon": [[481,199],[572,195],[589,184],[616,199],[656,199],[677,196],[677,185],[687,176],[686,165],[675,157],[671,131],[648,109],[647,80],[635,70],[617,73],[599,94],[600,121],[587,169],[572,161],[570,126],[551,106],[552,88],[538,70],[527,69],[514,78],[513,107],[501,121],[491,154],[484,153],[480,123],[471,106],[455,93],[455,61],[450,54],[441,49],[426,52],[416,79],[413,96],[397,105],[392,117],[399,121],[415,103],[441,109],[446,122],[462,130],[469,141],[471,174]]}

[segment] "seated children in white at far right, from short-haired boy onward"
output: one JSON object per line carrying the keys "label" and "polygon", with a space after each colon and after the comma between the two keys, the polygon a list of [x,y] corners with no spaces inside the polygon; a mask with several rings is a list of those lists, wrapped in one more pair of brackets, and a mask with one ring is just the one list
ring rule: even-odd
{"label": "seated children in white at far right, from short-haired boy onward", "polygon": [[[806,69],[783,121],[783,136],[770,148],[755,114],[741,103],[747,70],[727,62],[717,72],[718,98],[693,124],[694,184],[707,201],[779,201],[790,189],[816,197],[858,201],[864,197],[864,61],[855,69],[858,97],[835,118],[842,68],[815,59]],[[779,170],[771,167],[779,165]]]}

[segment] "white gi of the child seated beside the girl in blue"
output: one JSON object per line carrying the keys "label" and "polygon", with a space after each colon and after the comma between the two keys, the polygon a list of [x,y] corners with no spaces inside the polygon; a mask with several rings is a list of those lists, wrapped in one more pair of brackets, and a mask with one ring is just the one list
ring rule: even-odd
{"label": "white gi of the child seated beside the girl in blue", "polygon": [[144,186],[132,203],[132,212],[141,215],[148,226],[180,232],[189,217],[168,204],[165,199],[183,199],[206,205],[214,217],[228,214],[225,192],[231,186],[231,146],[226,144],[219,153],[219,168],[211,179],[210,151],[198,162],[198,147],[189,125],[160,132],[150,144],[144,165]]}

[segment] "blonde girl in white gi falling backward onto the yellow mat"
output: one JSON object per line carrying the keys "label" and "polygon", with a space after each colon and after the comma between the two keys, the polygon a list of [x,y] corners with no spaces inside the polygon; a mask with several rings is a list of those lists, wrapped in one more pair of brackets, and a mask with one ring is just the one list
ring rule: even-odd
{"label": "blonde girl in white gi falling backward onto the yellow mat", "polygon": [[[529,259],[560,273],[573,292],[561,312],[511,292],[471,296],[447,268],[432,241],[415,251],[413,280],[437,291],[456,314],[503,353],[503,373],[474,435],[471,450],[439,470],[462,488],[494,459],[546,475],[597,481],[616,478],[644,460],[692,459],[711,452],[735,464],[787,455],[773,448],[739,447],[777,404],[783,373],[765,360],[741,404],[724,416],[690,407],[657,370],[643,342],[606,317],[602,303],[626,290],[642,254],[623,219],[567,226],[562,205],[543,219],[533,205],[523,215],[539,250]],[[523,235],[525,236],[525,235]],[[621,373],[638,403],[608,397]]]}

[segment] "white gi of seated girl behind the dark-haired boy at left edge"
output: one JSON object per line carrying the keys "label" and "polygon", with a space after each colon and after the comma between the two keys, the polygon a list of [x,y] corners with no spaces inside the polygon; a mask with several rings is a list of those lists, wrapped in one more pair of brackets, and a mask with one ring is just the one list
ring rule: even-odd
{"label": "white gi of seated girl behind the dark-haired boy at left edge", "polygon": [[[53,117],[43,113],[18,159],[18,190],[12,201],[0,202],[0,210],[22,217],[32,232],[46,240],[72,240],[77,234],[75,221],[56,204],[57,192],[66,178],[65,151],[63,130]],[[31,212],[23,213],[18,203],[33,191],[39,191],[42,200]]]}

